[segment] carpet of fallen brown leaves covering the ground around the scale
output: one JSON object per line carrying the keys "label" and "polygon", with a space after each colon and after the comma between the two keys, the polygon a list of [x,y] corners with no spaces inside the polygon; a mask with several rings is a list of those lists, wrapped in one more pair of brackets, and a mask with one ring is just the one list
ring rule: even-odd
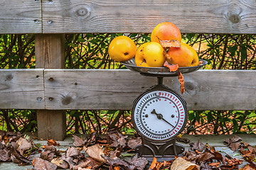
{"label": "carpet of fallen brown leaves covering the ground around the scale", "polygon": [[[242,159],[219,152],[215,147],[203,144],[200,140],[191,142],[190,148],[174,160],[152,162],[139,157],[135,152],[141,139],[137,136],[122,135],[117,130],[110,130],[104,136],[96,133],[85,139],[73,135],[73,143],[64,150],[58,149],[59,143],[48,140],[47,145],[35,144],[30,136],[14,132],[0,131],[0,161],[14,162],[20,166],[33,164],[33,169],[171,169],[171,170],[222,170],[256,169],[256,148],[249,143],[242,142],[236,135],[226,139],[224,144],[233,151],[238,151]],[[186,140],[188,142],[188,140]]]}

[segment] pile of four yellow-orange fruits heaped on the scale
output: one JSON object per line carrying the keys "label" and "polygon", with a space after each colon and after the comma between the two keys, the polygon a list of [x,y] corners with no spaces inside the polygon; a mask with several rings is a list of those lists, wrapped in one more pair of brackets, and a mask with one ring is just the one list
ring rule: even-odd
{"label": "pile of four yellow-orange fruits heaped on the scale", "polygon": [[119,36],[110,42],[109,55],[117,62],[135,58],[139,67],[178,67],[198,65],[198,54],[190,45],[181,42],[181,32],[174,23],[159,23],[151,33],[151,42],[145,42],[138,50],[134,41],[127,36]]}

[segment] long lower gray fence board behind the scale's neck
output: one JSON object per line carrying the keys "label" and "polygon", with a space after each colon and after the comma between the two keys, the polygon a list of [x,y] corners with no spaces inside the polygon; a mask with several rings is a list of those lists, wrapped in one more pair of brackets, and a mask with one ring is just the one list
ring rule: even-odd
{"label": "long lower gray fence board behind the scale's neck", "polygon": [[[189,110],[255,110],[256,71],[199,70],[184,74],[181,96]],[[46,109],[130,110],[139,94],[156,84],[127,69],[46,69]],[[164,84],[180,93],[178,77]]]}

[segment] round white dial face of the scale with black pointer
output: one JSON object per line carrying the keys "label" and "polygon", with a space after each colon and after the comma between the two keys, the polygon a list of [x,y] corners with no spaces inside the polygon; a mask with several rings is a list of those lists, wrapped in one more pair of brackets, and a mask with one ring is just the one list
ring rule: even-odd
{"label": "round white dial face of the scale with black pointer", "polygon": [[169,140],[183,130],[186,111],[182,101],[169,91],[151,91],[134,106],[134,123],[144,137]]}

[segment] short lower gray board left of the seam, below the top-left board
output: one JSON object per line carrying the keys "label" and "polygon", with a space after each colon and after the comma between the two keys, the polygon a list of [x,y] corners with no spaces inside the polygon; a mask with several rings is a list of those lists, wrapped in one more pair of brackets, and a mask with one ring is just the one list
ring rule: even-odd
{"label": "short lower gray board left of the seam, below the top-left board", "polygon": [[0,69],[0,108],[45,108],[43,69]]}

